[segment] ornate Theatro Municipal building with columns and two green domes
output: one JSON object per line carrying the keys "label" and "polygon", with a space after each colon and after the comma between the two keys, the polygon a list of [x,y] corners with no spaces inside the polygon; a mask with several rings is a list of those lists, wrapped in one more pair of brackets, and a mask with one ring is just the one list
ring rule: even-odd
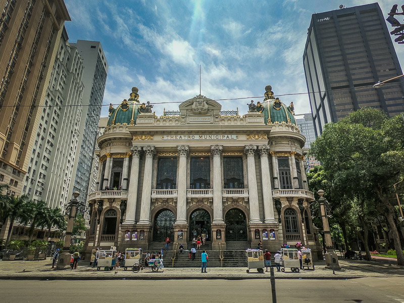
{"label": "ornate Theatro Municipal building with columns and two green domes", "polygon": [[213,250],[256,248],[259,240],[270,251],[296,242],[321,250],[309,209],[306,139],[293,104],[265,89],[264,100],[251,100],[242,117],[203,95],[158,117],[153,105],[139,102],[137,87],[111,105],[97,139],[86,252],[160,249],[167,237],[170,248],[190,249],[198,236]]}

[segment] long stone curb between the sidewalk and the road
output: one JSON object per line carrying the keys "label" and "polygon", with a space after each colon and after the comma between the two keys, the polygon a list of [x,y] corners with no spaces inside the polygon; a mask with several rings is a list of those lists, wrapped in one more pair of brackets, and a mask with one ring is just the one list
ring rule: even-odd
{"label": "long stone curb between the sidewalk and the road", "polygon": [[[350,280],[365,278],[366,276],[310,276],[310,277],[277,277],[275,279],[282,280]],[[81,280],[81,281],[99,281],[99,280],[252,280],[252,279],[267,279],[270,277],[244,277],[244,276],[106,276],[106,277],[96,277],[96,276],[69,276],[69,277],[43,277],[43,276],[0,276],[0,280],[40,280],[40,281],[54,281],[54,280]]]}

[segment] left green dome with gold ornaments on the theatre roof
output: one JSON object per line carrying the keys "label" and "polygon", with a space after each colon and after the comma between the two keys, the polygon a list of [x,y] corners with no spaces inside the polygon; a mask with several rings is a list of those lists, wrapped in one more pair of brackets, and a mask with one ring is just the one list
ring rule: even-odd
{"label": "left green dome with gold ornaments on the theatre roof", "polygon": [[110,104],[109,109],[109,119],[107,123],[107,127],[113,125],[135,125],[136,117],[138,114],[139,107],[139,89],[137,87],[132,87],[132,92],[130,93],[130,98],[124,99],[122,103],[114,108],[112,104]]}

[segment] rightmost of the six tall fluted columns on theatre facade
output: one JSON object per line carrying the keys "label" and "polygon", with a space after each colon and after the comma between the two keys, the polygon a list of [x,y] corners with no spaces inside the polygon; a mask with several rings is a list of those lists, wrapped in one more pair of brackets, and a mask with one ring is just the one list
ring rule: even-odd
{"label": "rightmost of the six tall fluted columns on theatre facade", "polygon": [[268,151],[269,145],[259,145],[262,172],[262,193],[264,201],[264,223],[276,223],[272,203],[271,177],[269,174]]}

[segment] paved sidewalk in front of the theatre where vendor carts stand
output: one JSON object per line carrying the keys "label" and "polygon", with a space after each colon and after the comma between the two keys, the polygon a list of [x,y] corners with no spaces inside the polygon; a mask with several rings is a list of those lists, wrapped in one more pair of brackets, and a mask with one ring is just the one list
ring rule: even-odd
{"label": "paved sidewalk in front of the theatre where vendor carts stand", "polygon": [[[315,270],[301,270],[299,273],[291,272],[286,269],[285,272],[276,272],[276,279],[354,279],[363,277],[404,277],[404,267],[389,265],[386,262],[366,262],[357,260],[339,260],[341,270],[335,271],[325,269],[325,262],[315,263]],[[394,263],[396,264],[396,263]],[[258,273],[251,270],[246,272],[244,267],[215,267],[209,268],[208,272],[201,273],[199,268],[172,268],[169,262],[165,264],[164,272],[154,273],[151,270],[133,273],[130,268],[124,271],[119,268],[112,271],[97,271],[96,268],[89,266],[87,262],[79,262],[76,270],[52,270],[52,261],[0,261],[0,280],[168,280],[168,279],[269,279],[270,273]],[[117,273],[115,273],[117,272]]]}

